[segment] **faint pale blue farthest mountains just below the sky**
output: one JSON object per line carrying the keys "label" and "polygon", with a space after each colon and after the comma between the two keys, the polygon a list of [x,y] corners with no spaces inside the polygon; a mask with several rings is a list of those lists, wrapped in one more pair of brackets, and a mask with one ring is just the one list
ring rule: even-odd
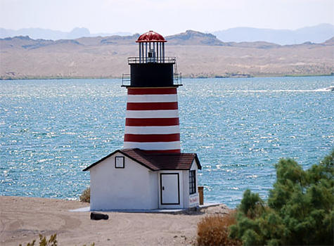
{"label": "faint pale blue farthest mountains just below the sky", "polygon": [[[158,31],[158,30],[157,30]],[[213,34],[213,35],[212,35]],[[87,28],[75,27],[71,32],[61,32],[55,30],[47,30],[41,28],[24,28],[20,30],[8,30],[0,28],[0,38],[29,36],[32,39],[79,39],[81,37],[110,37],[110,36],[131,36],[130,32],[115,32],[115,33],[97,33],[91,34]],[[181,36],[182,37],[181,37]],[[211,35],[211,36],[210,36]],[[195,32],[184,32],[183,34],[176,34],[169,36],[171,42],[177,39],[187,39],[194,42],[196,39]],[[214,37],[215,36],[215,37]],[[215,39],[219,39],[218,41]],[[228,30],[221,30],[208,34],[207,45],[219,45],[222,42],[254,42],[264,41],[273,44],[302,44],[304,42],[322,43],[334,37],[334,25],[320,24],[314,27],[304,27],[297,30],[272,30],[260,29],[252,27],[236,27]],[[203,41],[203,40],[201,40]],[[220,44],[221,45],[221,44]]]}

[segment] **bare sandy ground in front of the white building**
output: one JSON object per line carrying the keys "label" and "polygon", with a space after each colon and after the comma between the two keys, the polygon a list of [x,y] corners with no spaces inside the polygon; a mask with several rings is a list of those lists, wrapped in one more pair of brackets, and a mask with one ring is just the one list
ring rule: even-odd
{"label": "bare sandy ground in front of the white building", "polygon": [[193,245],[197,223],[207,214],[226,214],[219,205],[191,214],[107,212],[93,221],[89,212],[70,212],[88,203],[0,196],[0,245],[26,245],[39,234],[57,233],[58,245]]}

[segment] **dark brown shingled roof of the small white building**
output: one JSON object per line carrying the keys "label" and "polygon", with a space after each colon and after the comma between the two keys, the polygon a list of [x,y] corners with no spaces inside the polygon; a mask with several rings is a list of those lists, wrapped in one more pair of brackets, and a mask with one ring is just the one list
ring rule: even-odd
{"label": "dark brown shingled roof of the small white building", "polygon": [[129,157],[131,160],[142,164],[144,167],[152,171],[159,170],[189,170],[191,169],[191,164],[195,159],[198,164],[198,169],[202,169],[200,166],[200,160],[195,153],[144,153],[139,148],[131,148],[124,150],[116,150],[110,155],[103,157],[101,160],[98,160],[94,164],[91,164],[89,167],[86,167],[83,171],[89,170],[91,167],[94,167],[96,164],[107,159],[115,153],[122,153],[123,155]]}

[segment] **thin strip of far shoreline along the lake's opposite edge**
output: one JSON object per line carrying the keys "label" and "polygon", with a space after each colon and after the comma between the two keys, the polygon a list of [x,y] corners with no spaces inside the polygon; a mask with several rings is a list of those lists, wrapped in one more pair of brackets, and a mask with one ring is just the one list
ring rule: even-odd
{"label": "thin strip of far shoreline along the lake's opposite edge", "polygon": [[[182,77],[182,79],[245,79],[245,78],[273,78],[273,77],[332,77],[334,72],[330,74],[319,74],[319,75],[231,75],[231,76],[195,76],[195,77]],[[53,80],[53,79],[122,79],[122,77],[0,77],[0,81],[11,81],[11,80]]]}

